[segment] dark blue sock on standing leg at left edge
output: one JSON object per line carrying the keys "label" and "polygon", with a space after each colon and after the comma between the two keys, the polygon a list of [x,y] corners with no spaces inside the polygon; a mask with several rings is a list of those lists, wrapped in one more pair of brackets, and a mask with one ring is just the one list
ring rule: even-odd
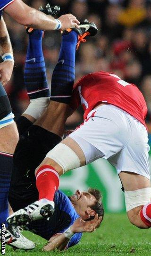
{"label": "dark blue sock on standing leg at left edge", "polygon": [[12,173],[13,155],[0,152],[0,226],[8,217],[8,192]]}

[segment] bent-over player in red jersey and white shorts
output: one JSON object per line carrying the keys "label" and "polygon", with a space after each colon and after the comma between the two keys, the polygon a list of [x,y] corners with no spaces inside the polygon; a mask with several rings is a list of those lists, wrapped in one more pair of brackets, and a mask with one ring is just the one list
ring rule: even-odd
{"label": "bent-over player in red jersey and white shorts", "polygon": [[[72,62],[72,58],[70,61]],[[51,100],[56,100],[57,97],[63,96],[51,95]],[[95,72],[84,76],[75,85],[71,112],[79,104],[84,109],[84,123],[50,150],[35,171],[39,192],[36,207],[34,204],[34,209],[30,212],[25,209],[15,212],[8,218],[8,223],[21,225],[26,221],[51,216],[59,176],[70,169],[104,158],[117,169],[123,184],[129,221],[136,227],[149,228],[151,183],[148,136],[144,121],[147,107],[142,93],[134,84],[127,83],[115,74]],[[43,128],[46,129],[47,122],[50,122],[49,114],[51,113],[52,118],[55,111],[59,116],[59,127],[64,127],[66,118],[60,121],[62,108],[48,107],[38,121],[39,124],[45,123]],[[66,113],[67,111],[69,112],[69,107],[66,108]],[[32,209],[32,205],[28,207]]]}

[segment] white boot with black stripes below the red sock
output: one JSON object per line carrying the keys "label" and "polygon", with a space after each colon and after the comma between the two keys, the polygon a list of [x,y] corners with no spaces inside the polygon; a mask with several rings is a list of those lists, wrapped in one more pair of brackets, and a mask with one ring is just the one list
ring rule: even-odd
{"label": "white boot with black stripes below the red sock", "polygon": [[53,201],[42,203],[40,200],[28,205],[24,209],[14,212],[7,218],[7,223],[8,225],[26,226],[30,221],[40,219],[49,220],[49,217],[53,215],[53,212]]}

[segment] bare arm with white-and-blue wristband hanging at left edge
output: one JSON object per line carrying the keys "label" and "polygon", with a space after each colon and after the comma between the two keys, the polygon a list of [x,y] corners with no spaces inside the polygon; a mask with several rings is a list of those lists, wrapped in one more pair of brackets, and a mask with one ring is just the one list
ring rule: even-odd
{"label": "bare arm with white-and-blue wristband hanging at left edge", "polygon": [[[0,56],[5,56],[4,54],[11,53],[11,59],[5,60],[0,63],[0,82],[3,86],[7,84],[7,82],[11,78],[11,74],[14,67],[14,61],[12,59],[13,50],[10,42],[10,38],[8,35],[8,30],[5,24],[4,19],[1,17],[0,20]],[[4,57],[5,58],[5,57]]]}

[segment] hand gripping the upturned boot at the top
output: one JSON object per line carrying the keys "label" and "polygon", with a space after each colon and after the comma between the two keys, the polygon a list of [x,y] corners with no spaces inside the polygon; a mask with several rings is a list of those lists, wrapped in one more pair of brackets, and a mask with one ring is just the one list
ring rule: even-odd
{"label": "hand gripping the upturned boot at the top", "polygon": [[71,26],[75,26],[79,28],[78,25],[80,24],[80,22],[71,13],[62,15],[58,19],[61,21],[61,24],[62,24],[61,30],[65,30]]}

